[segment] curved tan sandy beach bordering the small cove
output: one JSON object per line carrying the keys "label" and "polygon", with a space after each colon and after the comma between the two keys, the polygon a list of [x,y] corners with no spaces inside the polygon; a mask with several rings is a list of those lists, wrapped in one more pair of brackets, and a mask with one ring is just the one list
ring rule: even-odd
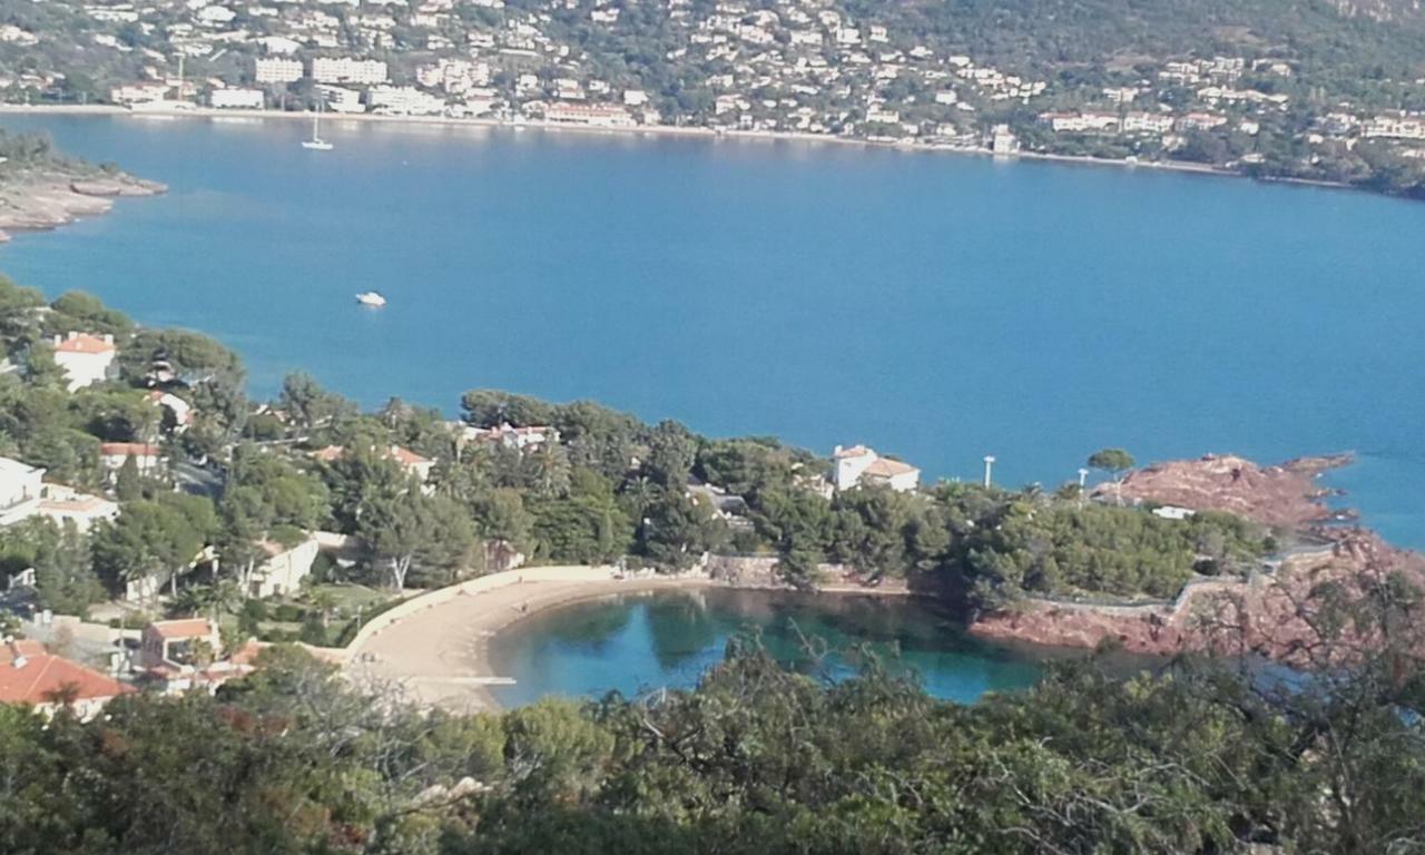
{"label": "curved tan sandy beach bordering the small cove", "polygon": [[[517,573],[517,571],[510,571]],[[610,594],[715,586],[704,577],[624,580],[526,580],[453,597],[393,621],[348,650],[346,674],[422,707],[452,712],[494,710],[486,688],[507,680],[487,657],[500,630],[547,608]]]}

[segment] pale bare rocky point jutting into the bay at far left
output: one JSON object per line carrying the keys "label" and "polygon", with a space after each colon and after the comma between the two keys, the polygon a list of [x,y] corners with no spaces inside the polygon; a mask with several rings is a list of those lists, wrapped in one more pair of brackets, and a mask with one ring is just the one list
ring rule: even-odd
{"label": "pale bare rocky point jutting into the bay at far left", "polygon": [[125,174],[71,175],[44,171],[0,184],[0,242],[14,231],[47,231],[84,217],[108,214],[121,197],[167,192],[157,181]]}

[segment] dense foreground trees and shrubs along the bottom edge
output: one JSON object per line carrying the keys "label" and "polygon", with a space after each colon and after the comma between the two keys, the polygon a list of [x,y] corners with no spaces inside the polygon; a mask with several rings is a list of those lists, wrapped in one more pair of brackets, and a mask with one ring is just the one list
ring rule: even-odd
{"label": "dense foreground trees and shrubs along the bottom edge", "polygon": [[1067,665],[958,707],[738,643],[694,691],[460,717],[276,648],[218,697],[0,708],[0,849],[1408,854],[1422,693],[1392,654],[1290,688]]}

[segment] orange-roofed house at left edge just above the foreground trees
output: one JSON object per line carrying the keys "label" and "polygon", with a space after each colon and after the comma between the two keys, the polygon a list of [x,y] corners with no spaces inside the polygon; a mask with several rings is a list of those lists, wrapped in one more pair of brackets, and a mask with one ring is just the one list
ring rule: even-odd
{"label": "orange-roofed house at left edge just above the foreground trees", "polygon": [[68,707],[81,721],[133,687],[23,638],[0,644],[0,703],[33,707],[46,717]]}

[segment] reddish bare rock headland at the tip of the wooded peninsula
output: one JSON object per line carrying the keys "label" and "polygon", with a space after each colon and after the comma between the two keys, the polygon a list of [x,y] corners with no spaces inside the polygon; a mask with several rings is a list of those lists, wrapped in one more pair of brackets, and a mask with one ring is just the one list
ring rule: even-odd
{"label": "reddish bare rock headland at the tip of the wooded peninsula", "polygon": [[[1106,603],[1027,598],[970,626],[979,637],[1057,647],[1110,644],[1130,653],[1171,656],[1213,651],[1255,654],[1294,665],[1315,660],[1324,633],[1338,633],[1347,650],[1365,651],[1378,641],[1378,627],[1324,626],[1327,601],[1364,601],[1394,580],[1425,583],[1425,556],[1389,546],[1361,527],[1330,520],[1349,512],[1325,506],[1328,490],[1314,479],[1349,463],[1348,455],[1302,457],[1280,466],[1258,466],[1235,456],[1207,455],[1137,470],[1120,487],[1096,490],[1104,500],[1176,504],[1193,510],[1231,512],[1271,526],[1297,546],[1245,576],[1196,579],[1171,601]],[[1341,656],[1342,647],[1334,647]]]}

